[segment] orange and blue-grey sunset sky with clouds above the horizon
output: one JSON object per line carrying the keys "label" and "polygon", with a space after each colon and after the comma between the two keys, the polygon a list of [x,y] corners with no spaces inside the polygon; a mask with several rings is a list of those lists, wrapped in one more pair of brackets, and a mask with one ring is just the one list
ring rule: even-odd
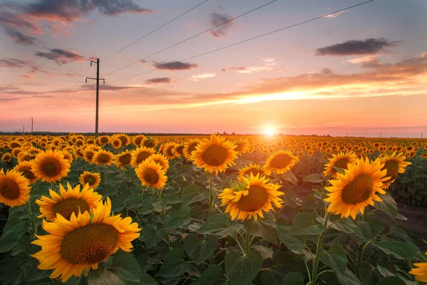
{"label": "orange and blue-grey sunset sky with clouds above the horizon", "polygon": [[0,131],[427,137],[427,0],[270,1],[0,0]]}

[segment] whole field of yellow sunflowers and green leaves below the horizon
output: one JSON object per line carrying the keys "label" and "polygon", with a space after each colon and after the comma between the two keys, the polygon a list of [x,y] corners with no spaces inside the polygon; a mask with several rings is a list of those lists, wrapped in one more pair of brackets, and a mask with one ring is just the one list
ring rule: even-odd
{"label": "whole field of yellow sunflowers and green leaves below the horizon", "polygon": [[426,140],[0,136],[0,284],[427,282]]}

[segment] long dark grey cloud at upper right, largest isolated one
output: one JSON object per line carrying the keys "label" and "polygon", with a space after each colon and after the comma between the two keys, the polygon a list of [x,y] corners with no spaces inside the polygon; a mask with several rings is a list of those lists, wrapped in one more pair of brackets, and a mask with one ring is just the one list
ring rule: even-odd
{"label": "long dark grey cloud at upper right, largest isolated one", "polygon": [[316,56],[361,56],[376,53],[389,53],[399,41],[389,41],[386,38],[367,38],[364,41],[352,40],[337,43],[332,46],[317,48]]}

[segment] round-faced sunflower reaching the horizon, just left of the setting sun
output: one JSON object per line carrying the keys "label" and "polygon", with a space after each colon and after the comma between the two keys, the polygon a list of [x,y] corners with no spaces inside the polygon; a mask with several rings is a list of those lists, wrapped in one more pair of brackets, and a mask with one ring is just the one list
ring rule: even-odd
{"label": "round-faced sunflower reaching the horizon, just left of the setting sun", "polygon": [[234,165],[233,160],[237,157],[234,150],[236,145],[220,135],[211,135],[211,140],[204,139],[197,145],[196,150],[191,152],[191,160],[199,168],[204,168],[210,173],[224,172],[228,165]]}

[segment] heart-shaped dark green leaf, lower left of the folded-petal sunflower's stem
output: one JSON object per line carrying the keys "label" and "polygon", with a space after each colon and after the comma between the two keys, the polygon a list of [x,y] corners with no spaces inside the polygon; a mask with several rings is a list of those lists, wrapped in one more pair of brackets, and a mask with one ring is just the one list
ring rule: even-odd
{"label": "heart-shaped dark green leaf, lower left of the folded-petal sunflower's stem", "polygon": [[184,239],[186,254],[197,264],[205,261],[218,246],[216,237],[208,235],[204,241],[200,241],[196,234],[189,234]]}

